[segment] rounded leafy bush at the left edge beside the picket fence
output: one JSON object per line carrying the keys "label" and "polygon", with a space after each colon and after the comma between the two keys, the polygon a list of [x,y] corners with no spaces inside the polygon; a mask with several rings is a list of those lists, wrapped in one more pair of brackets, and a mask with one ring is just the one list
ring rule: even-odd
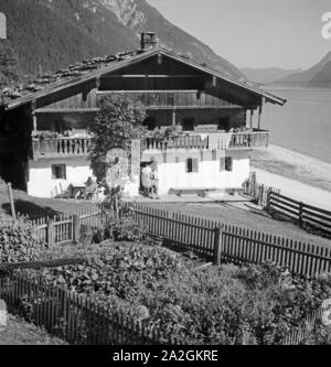
{"label": "rounded leafy bush at the left edge beside the picket fence", "polygon": [[0,262],[25,262],[41,257],[44,244],[38,239],[31,222],[21,217],[0,227]]}

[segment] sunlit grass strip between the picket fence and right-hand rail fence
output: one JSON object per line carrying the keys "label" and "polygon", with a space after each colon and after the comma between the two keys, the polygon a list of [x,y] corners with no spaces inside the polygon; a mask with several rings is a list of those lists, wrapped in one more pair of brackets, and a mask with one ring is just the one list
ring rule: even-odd
{"label": "sunlit grass strip between the picket fence and right-hand rail fence", "polygon": [[182,213],[204,217],[211,220],[217,220],[252,230],[275,234],[281,237],[292,238],[302,242],[331,246],[331,240],[307,233],[293,223],[273,219],[266,212],[249,209],[248,207],[235,206],[232,203],[171,203],[154,204],[159,208],[166,208],[169,212]]}

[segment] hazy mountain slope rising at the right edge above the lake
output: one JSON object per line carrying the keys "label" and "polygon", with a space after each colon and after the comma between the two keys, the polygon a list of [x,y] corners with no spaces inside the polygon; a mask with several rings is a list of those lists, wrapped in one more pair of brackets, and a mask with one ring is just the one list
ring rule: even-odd
{"label": "hazy mountain slope rising at the right edge above the lake", "polygon": [[331,52],[308,71],[291,74],[271,83],[286,87],[331,87]]}

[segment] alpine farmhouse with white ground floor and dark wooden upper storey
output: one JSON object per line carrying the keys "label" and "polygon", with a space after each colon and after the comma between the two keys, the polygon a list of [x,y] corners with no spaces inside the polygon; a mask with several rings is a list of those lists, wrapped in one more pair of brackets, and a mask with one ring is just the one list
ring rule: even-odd
{"label": "alpine farmhouse with white ground floor and dark wooden upper storey", "polygon": [[86,182],[93,176],[88,127],[104,95],[141,101],[151,130],[178,126],[184,132],[183,138],[136,144],[141,160],[128,164],[128,196],[139,195],[140,169],[151,161],[158,162],[160,195],[241,190],[252,150],[268,145],[264,104],[286,104],[159,47],[156,34],[142,33],[136,52],[77,63],[24,89],[2,91],[0,176],[38,197],[55,197]]}

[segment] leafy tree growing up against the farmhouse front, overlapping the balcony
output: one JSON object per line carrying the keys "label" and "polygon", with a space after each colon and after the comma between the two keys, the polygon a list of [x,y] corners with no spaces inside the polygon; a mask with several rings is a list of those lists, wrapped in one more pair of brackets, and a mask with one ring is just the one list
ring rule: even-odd
{"label": "leafy tree growing up against the farmhouse front, overlapping the balcony", "polygon": [[99,111],[90,127],[90,165],[98,181],[106,177],[106,156],[113,149],[130,153],[132,140],[143,140],[147,129],[142,126],[146,110],[140,102],[124,96],[104,96]]}

